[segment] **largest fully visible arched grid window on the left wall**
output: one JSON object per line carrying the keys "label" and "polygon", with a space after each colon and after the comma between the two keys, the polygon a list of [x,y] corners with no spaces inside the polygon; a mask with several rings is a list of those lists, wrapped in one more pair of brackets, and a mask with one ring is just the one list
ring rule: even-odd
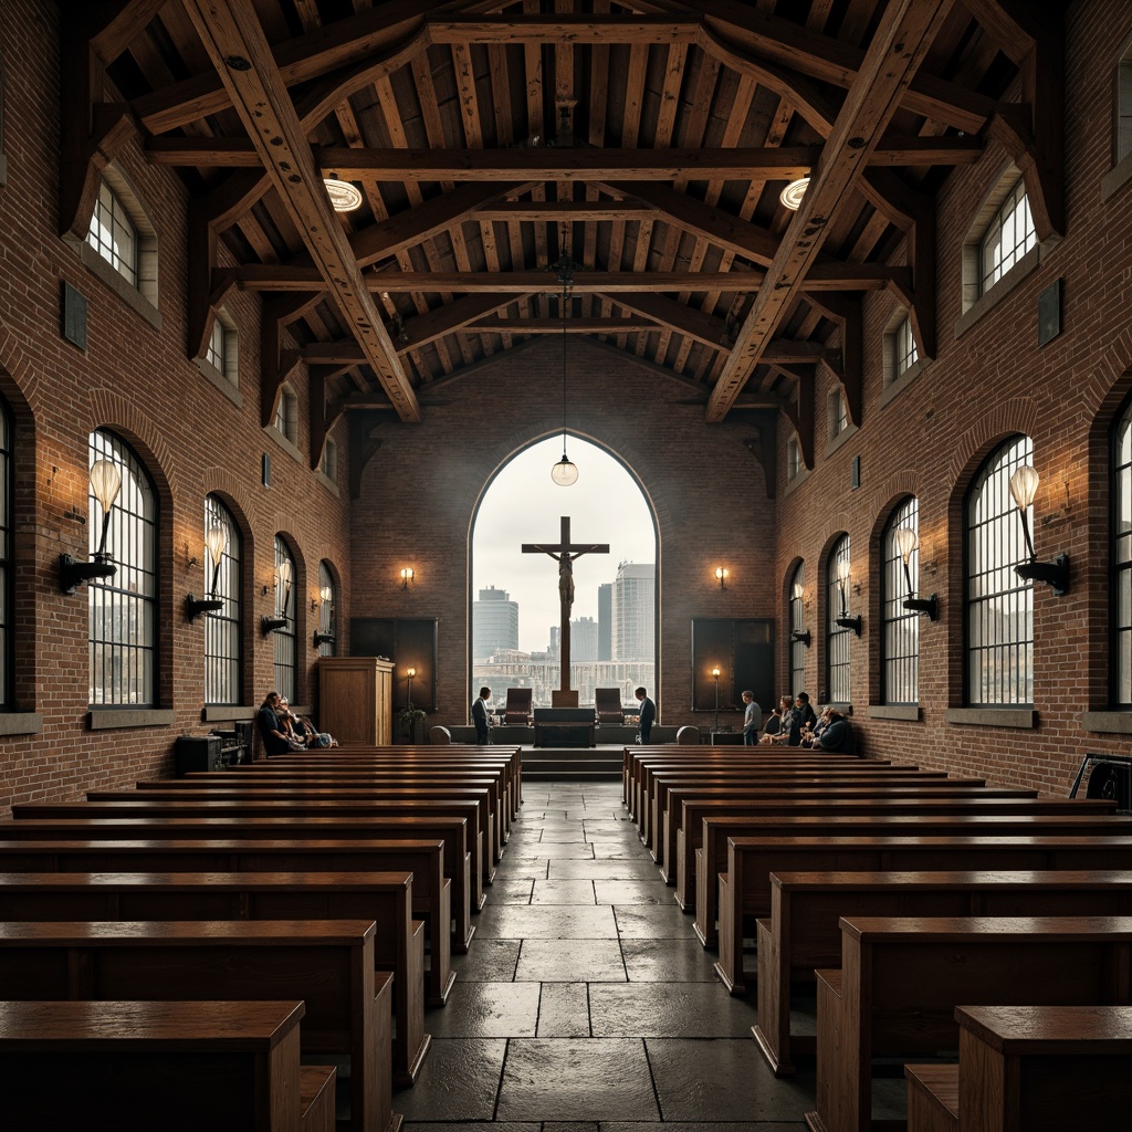
{"label": "largest fully visible arched grid window on the left wall", "polygon": [[[108,461],[121,477],[110,508],[105,551],[111,577],[88,585],[91,705],[152,707],[157,687],[157,496],[145,468],[121,437],[91,434],[89,465]],[[91,492],[91,554],[102,539],[102,508]]]}

